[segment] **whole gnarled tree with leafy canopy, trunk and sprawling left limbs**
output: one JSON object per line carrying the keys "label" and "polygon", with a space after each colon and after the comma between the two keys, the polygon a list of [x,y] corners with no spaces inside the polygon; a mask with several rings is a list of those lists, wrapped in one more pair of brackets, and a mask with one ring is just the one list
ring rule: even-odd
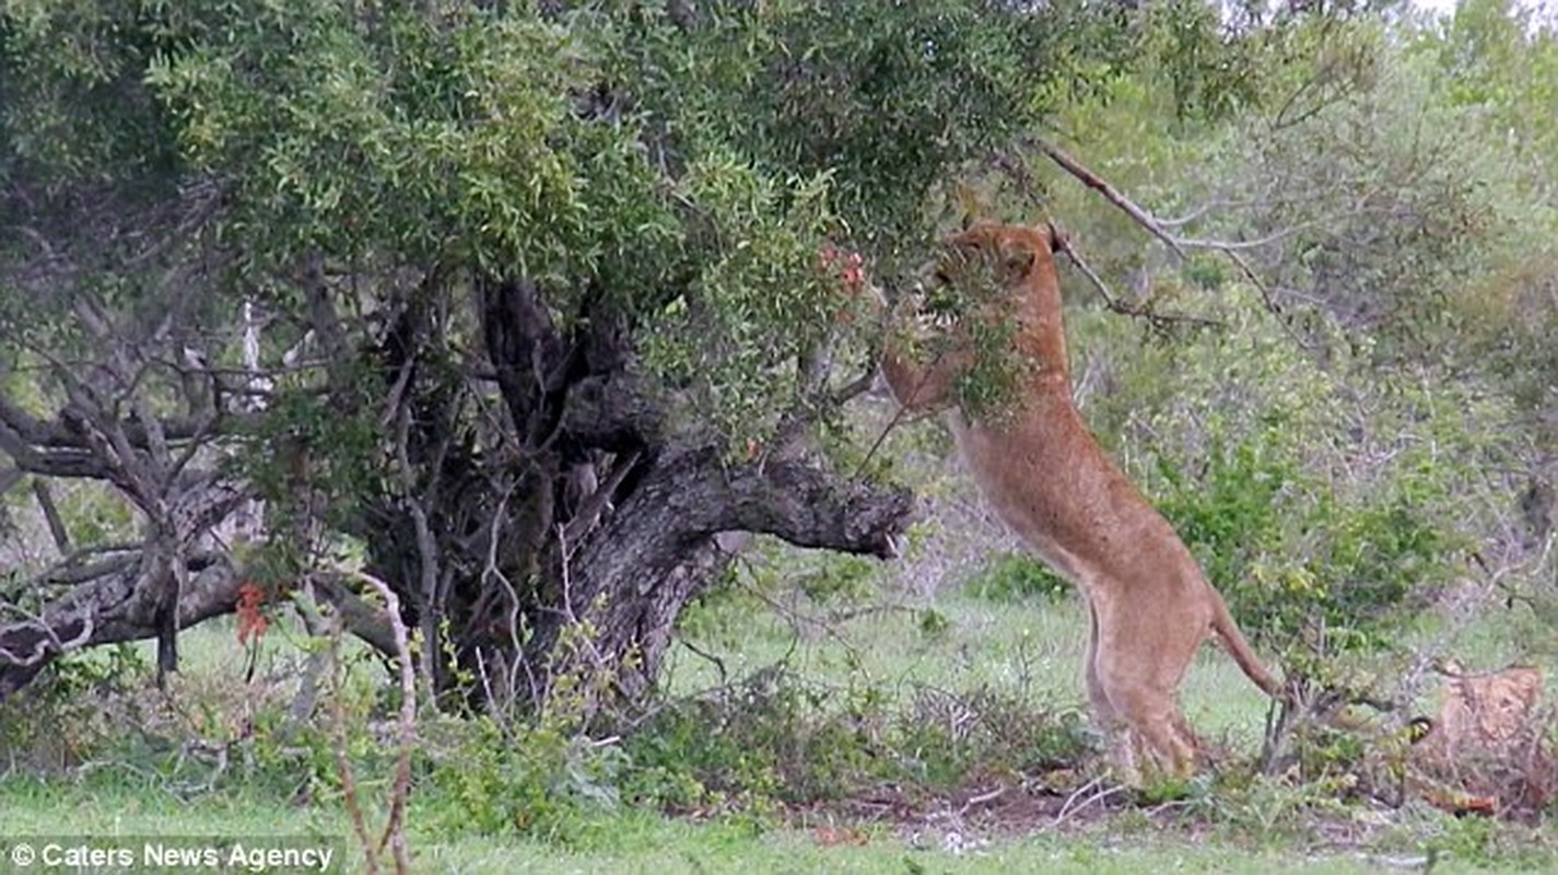
{"label": "whole gnarled tree with leafy canopy, trunk and sprawling left limbs", "polygon": [[[721,532],[887,555],[840,463],[868,320],[932,195],[1128,51],[1086,3],[159,3],[0,14],[0,451],[48,512],[0,696],[75,647],[341,571],[435,689],[654,680]],[[245,338],[248,337],[248,356]],[[235,516],[262,524],[234,532]]]}

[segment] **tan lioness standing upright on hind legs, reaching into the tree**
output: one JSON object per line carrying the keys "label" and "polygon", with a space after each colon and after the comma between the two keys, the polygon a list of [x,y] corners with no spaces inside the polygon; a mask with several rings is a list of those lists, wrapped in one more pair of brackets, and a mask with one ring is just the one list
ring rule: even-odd
{"label": "tan lioness standing upright on hind legs, reaching into the tree", "polygon": [[1053,228],[974,226],[947,240],[936,271],[943,284],[968,270],[991,271],[985,279],[996,299],[983,318],[1014,320],[1011,343],[1025,360],[1014,410],[971,421],[957,409],[958,379],[974,360],[968,324],[943,324],[943,351],[924,363],[911,360],[925,356],[910,352],[894,332],[882,373],[904,407],[952,409],[952,432],[980,491],[1050,568],[1081,588],[1091,615],[1087,697],[1119,744],[1126,777],[1139,777],[1133,733],[1159,767],[1183,777],[1198,747],[1178,688],[1203,641],[1215,633],[1270,696],[1281,686],[1173,529],[1109,462],[1072,404],[1055,236]]}

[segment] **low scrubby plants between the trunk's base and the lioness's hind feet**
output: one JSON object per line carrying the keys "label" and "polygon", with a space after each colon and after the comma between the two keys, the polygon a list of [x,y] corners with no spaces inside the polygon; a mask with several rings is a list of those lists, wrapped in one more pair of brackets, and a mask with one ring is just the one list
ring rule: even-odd
{"label": "low scrubby plants between the trunk's base and the lioness's hind feet", "polygon": [[952,789],[975,775],[1063,767],[1089,742],[1078,713],[991,691],[925,689],[894,707],[869,686],[834,691],[776,668],[656,713],[626,752],[642,803],[765,811],[880,783]]}

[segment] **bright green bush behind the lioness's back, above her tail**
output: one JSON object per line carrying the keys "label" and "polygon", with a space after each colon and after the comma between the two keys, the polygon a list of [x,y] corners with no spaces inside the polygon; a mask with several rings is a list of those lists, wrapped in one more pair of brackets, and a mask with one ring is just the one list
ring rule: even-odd
{"label": "bright green bush behind the lioness's back, above her tail", "polygon": [[1482,471],[1517,451],[1494,426],[1505,402],[1475,384],[1371,368],[1368,349],[1323,367],[1248,290],[1186,290],[1184,301],[1212,293],[1237,321],[1133,345],[1114,395],[1092,401],[1092,424],[1246,630],[1387,644],[1402,608],[1461,561],[1482,524],[1468,496],[1497,501]]}

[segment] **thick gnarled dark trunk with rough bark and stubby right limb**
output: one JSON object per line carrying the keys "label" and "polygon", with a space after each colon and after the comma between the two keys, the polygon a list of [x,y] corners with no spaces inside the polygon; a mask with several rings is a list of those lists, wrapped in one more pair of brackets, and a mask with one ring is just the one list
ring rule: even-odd
{"label": "thick gnarled dark trunk with rough bark and stubby right limb", "polygon": [[[374,571],[408,622],[452,638],[428,666],[441,691],[466,675],[477,678],[467,703],[534,703],[559,672],[589,671],[636,699],[682,607],[729,558],[717,533],[887,557],[907,527],[904,490],[851,482],[799,451],[729,465],[704,427],[673,426],[612,314],[590,309],[564,335],[530,282],[483,282],[475,299],[509,452],[494,465],[491,443],[442,430],[450,416],[422,404],[400,452],[439,504],[385,504],[368,529]],[[396,334],[385,373],[421,374],[418,356],[433,352],[410,338],[433,334],[411,321]],[[400,393],[408,406],[458,396],[414,376]]]}

